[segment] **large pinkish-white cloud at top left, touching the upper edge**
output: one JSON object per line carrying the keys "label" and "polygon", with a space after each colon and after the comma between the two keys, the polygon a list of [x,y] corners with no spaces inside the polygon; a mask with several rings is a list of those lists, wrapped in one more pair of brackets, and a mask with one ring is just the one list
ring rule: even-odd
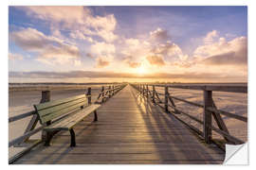
{"label": "large pinkish-white cloud at top left, touching the upper edge", "polygon": [[[16,7],[24,10],[31,18],[46,21],[60,30],[68,30],[71,38],[80,38],[92,41],[92,36],[101,37],[106,42],[115,41],[118,36],[114,34],[117,20],[113,14],[94,16],[86,7],[75,6],[43,6],[43,7]],[[68,12],[68,14],[67,14]],[[83,36],[82,36],[83,35]],[[91,39],[89,39],[89,38]]]}

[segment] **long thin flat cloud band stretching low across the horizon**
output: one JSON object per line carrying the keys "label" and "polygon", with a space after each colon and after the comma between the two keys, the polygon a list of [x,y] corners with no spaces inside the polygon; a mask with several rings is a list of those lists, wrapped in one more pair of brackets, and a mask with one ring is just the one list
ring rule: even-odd
{"label": "long thin flat cloud band stretching low across the horizon", "polygon": [[[22,78],[141,78],[137,74],[131,73],[117,73],[117,72],[93,72],[93,71],[70,71],[70,72],[9,72],[9,77],[22,77]],[[144,74],[143,78],[245,78],[245,76],[227,76],[218,73],[155,73]]]}

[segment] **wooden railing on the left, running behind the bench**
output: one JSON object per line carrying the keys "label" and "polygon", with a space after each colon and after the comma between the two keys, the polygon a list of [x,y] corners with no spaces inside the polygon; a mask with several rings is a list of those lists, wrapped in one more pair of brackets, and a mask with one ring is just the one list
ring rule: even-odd
{"label": "wooden railing on the left, running behind the bench", "polygon": [[[111,85],[108,86],[108,88],[102,86],[101,87],[101,92],[99,93],[99,96],[97,97],[97,100],[95,101],[95,103],[103,103],[106,101],[107,98],[112,97],[113,95],[115,95],[116,93],[118,93],[121,89],[123,89],[126,86],[126,84],[116,84],[116,85]],[[92,103],[92,93],[91,93],[91,87],[87,88],[87,92],[86,92],[86,96],[88,99],[88,105],[90,105]],[[99,101],[101,100],[101,101]],[[50,101],[50,91],[42,91],[42,98],[40,103],[45,103]],[[13,140],[11,140],[9,142],[9,147],[10,146],[20,146],[22,144],[26,144],[29,143],[29,138],[34,135],[35,133],[38,133],[39,131],[41,131],[44,126],[41,127],[37,127],[39,118],[38,115],[36,114],[35,110],[30,110],[26,113],[22,113],[16,116],[12,116],[9,117],[9,123],[21,120],[21,119],[25,119],[27,117],[31,117],[27,128],[24,132],[24,134],[22,136],[19,136]],[[24,149],[23,151],[19,152],[18,154],[14,155],[13,157],[9,158],[9,163],[12,163],[13,161],[16,161],[18,158],[20,158],[21,156],[23,156],[25,153],[27,153],[29,150],[31,150],[33,147],[35,147],[37,144],[41,144],[42,143],[42,139],[38,139],[33,141],[32,144],[30,144],[26,149]]]}

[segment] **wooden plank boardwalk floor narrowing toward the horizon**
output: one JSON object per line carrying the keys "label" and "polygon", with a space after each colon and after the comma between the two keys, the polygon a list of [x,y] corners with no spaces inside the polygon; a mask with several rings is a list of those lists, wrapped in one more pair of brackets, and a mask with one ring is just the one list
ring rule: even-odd
{"label": "wooden plank boardwalk floor narrowing toward the horizon", "polygon": [[225,153],[204,144],[187,127],[158,107],[148,104],[126,86],[93,115],[74,128],[77,146],[69,147],[68,132],[57,134],[14,163],[64,164],[180,164],[222,163]]}

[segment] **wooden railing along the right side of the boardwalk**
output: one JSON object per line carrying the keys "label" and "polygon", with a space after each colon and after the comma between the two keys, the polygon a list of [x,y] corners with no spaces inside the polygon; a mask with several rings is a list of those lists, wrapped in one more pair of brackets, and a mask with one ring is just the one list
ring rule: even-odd
{"label": "wooden railing along the right side of the boardwalk", "polygon": [[[147,99],[151,99],[155,105],[158,105],[160,108],[165,110],[168,113],[173,113],[174,117],[177,118],[180,122],[185,124],[186,126],[190,127],[194,130],[197,134],[199,134],[207,144],[211,142],[214,143],[212,140],[211,131],[214,130],[218,134],[222,135],[228,144],[243,144],[244,141],[232,136],[229,134],[228,127],[226,127],[225,122],[222,119],[221,115],[228,116],[233,119],[237,119],[239,121],[243,121],[247,123],[247,117],[230,113],[225,110],[218,110],[213,98],[212,92],[229,92],[229,93],[247,93],[247,84],[244,85],[198,85],[198,84],[186,84],[186,85],[155,85],[155,84],[131,84],[137,91],[142,95],[145,96]],[[149,87],[152,87],[150,90]],[[159,93],[155,90],[155,87],[164,88],[164,93]],[[169,89],[177,88],[177,89],[190,89],[190,90],[200,90],[204,92],[204,104],[194,103],[169,93]],[[162,100],[159,95],[164,96],[164,100]],[[181,102],[185,102],[190,104],[194,107],[199,107],[203,109],[203,120],[199,120],[197,117],[189,114],[183,110],[177,109],[175,106],[174,100],[178,100]],[[172,110],[169,110],[169,109]],[[183,114],[193,121],[203,125],[203,131],[198,129],[197,127],[192,126],[191,124],[185,122],[177,114]],[[212,125],[211,115],[213,116],[216,124],[218,127],[214,127]],[[223,146],[223,145],[222,145]]]}

